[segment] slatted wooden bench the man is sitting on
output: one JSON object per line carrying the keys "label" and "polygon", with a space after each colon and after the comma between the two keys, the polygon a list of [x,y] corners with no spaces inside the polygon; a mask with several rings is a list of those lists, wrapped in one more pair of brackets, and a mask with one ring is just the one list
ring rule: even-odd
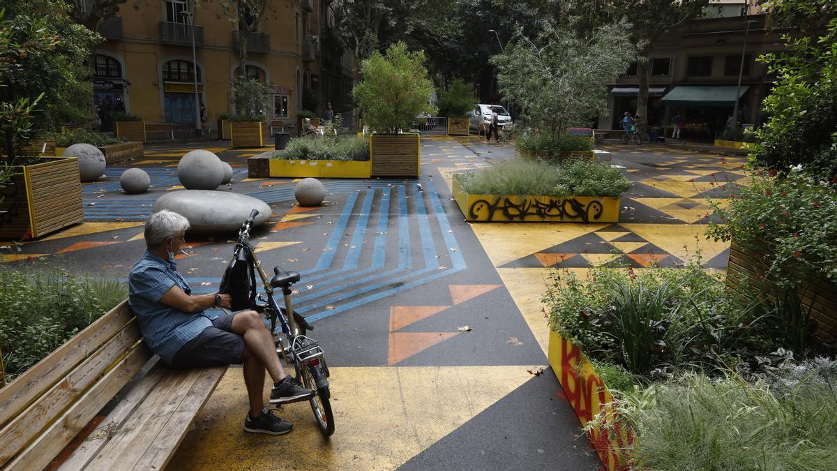
{"label": "slatted wooden bench the man is sitting on", "polygon": [[0,468],[162,469],[226,370],[168,368],[123,301],[0,389]]}

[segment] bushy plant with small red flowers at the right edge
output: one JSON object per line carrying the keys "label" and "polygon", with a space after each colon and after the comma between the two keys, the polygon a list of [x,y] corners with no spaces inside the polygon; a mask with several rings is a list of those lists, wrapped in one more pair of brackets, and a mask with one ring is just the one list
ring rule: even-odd
{"label": "bushy plant with small red flowers at the right edge", "polygon": [[778,178],[756,170],[750,185],[726,207],[713,204],[726,224],[710,224],[707,237],[750,248],[773,248],[768,274],[796,287],[822,273],[837,281],[837,181],[822,182],[798,170]]}

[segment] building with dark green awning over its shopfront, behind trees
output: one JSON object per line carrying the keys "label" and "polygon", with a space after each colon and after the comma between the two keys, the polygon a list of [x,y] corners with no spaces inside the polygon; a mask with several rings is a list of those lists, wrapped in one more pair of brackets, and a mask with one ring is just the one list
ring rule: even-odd
{"label": "building with dark green awning over its shopfront, behind trees", "polygon": [[[780,34],[769,28],[767,15],[747,3],[725,3],[707,13],[711,14],[676,28],[654,44],[649,116],[643,119],[656,132],[670,134],[671,118],[680,114],[686,119],[686,138],[711,141],[727,127],[736,94],[737,122],[744,127],[763,122],[760,104],[773,80],[767,66],[756,59],[783,50]],[[618,129],[624,112],[636,111],[636,65],[609,86],[609,116],[599,116],[599,129]]]}

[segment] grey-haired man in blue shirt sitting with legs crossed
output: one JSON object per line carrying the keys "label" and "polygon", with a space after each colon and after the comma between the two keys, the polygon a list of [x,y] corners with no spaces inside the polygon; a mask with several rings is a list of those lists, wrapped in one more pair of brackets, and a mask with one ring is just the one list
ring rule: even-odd
{"label": "grey-haired man in blue shirt sitting with legs crossed", "polygon": [[281,435],[293,425],[264,407],[264,371],[274,381],[271,404],[306,401],[315,393],[286,375],[276,355],[273,335],[259,313],[240,311],[222,316],[209,308],[229,308],[229,294],[192,295],[177,272],[174,254],[186,243],[189,221],[162,210],[146,221],[147,250],[129,277],[128,302],[142,336],[154,353],[173,368],[202,368],[244,363],[249,396],[247,432]]}

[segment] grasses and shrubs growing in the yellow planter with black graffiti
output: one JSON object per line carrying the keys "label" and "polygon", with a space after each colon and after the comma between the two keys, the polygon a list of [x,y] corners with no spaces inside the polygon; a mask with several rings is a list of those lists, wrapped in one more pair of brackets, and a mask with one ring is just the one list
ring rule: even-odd
{"label": "grasses and shrubs growing in the yellow planter with black graffiti", "polygon": [[454,179],[470,194],[619,198],[630,188],[630,182],[618,168],[582,159],[561,166],[515,159],[480,173],[457,173]]}

